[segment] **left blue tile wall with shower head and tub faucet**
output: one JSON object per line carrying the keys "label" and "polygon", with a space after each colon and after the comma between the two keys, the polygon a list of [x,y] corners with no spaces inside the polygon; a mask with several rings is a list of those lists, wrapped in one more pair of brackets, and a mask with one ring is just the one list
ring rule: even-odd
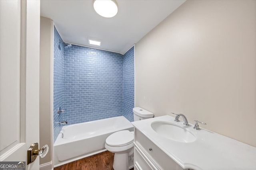
{"label": "left blue tile wall with shower head and tub faucet", "polygon": [[[61,43],[59,42],[61,41]],[[58,134],[63,125],[56,124],[55,122],[63,120],[63,114],[58,116],[58,107],[63,107],[63,92],[64,92],[64,70],[63,70],[63,58],[64,55],[64,44],[62,39],[54,27],[54,66],[53,66],[53,128],[54,128],[54,142],[56,141]]]}

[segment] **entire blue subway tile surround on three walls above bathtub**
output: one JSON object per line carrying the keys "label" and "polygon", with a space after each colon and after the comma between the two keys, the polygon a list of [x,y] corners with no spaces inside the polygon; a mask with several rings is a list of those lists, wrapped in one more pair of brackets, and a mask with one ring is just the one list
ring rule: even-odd
{"label": "entire blue subway tile surround on three walls above bathtub", "polygon": [[[78,45],[65,49],[59,39],[54,29],[54,122],[70,125],[120,115],[133,121],[134,48],[124,55]],[[58,107],[66,112],[58,116]],[[54,124],[54,141],[62,126]]]}

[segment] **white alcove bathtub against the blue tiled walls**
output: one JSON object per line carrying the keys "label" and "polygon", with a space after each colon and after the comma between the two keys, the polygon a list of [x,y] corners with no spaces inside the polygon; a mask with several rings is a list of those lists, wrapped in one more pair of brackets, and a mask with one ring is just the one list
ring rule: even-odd
{"label": "white alcove bathtub against the blue tiled walls", "polygon": [[63,126],[54,143],[54,167],[106,151],[106,138],[125,129],[133,131],[124,116]]}

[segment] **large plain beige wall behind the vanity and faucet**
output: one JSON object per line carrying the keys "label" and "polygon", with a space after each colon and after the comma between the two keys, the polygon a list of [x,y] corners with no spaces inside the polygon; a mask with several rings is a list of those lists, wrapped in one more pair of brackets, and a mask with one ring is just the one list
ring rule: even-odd
{"label": "large plain beige wall behind the vanity and faucet", "polygon": [[136,106],[256,147],[256,1],[186,1],[136,44]]}

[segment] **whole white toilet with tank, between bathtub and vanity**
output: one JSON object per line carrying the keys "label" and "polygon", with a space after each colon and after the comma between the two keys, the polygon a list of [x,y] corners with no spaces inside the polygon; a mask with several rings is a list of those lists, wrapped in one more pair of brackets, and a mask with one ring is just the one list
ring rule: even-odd
{"label": "whole white toilet with tank, between bathtub and vanity", "polygon": [[[134,121],[149,119],[154,117],[150,111],[140,107],[132,109]],[[118,131],[112,133],[107,137],[105,148],[114,153],[114,170],[129,170],[134,167],[133,153],[134,153],[134,132],[128,130]]]}

